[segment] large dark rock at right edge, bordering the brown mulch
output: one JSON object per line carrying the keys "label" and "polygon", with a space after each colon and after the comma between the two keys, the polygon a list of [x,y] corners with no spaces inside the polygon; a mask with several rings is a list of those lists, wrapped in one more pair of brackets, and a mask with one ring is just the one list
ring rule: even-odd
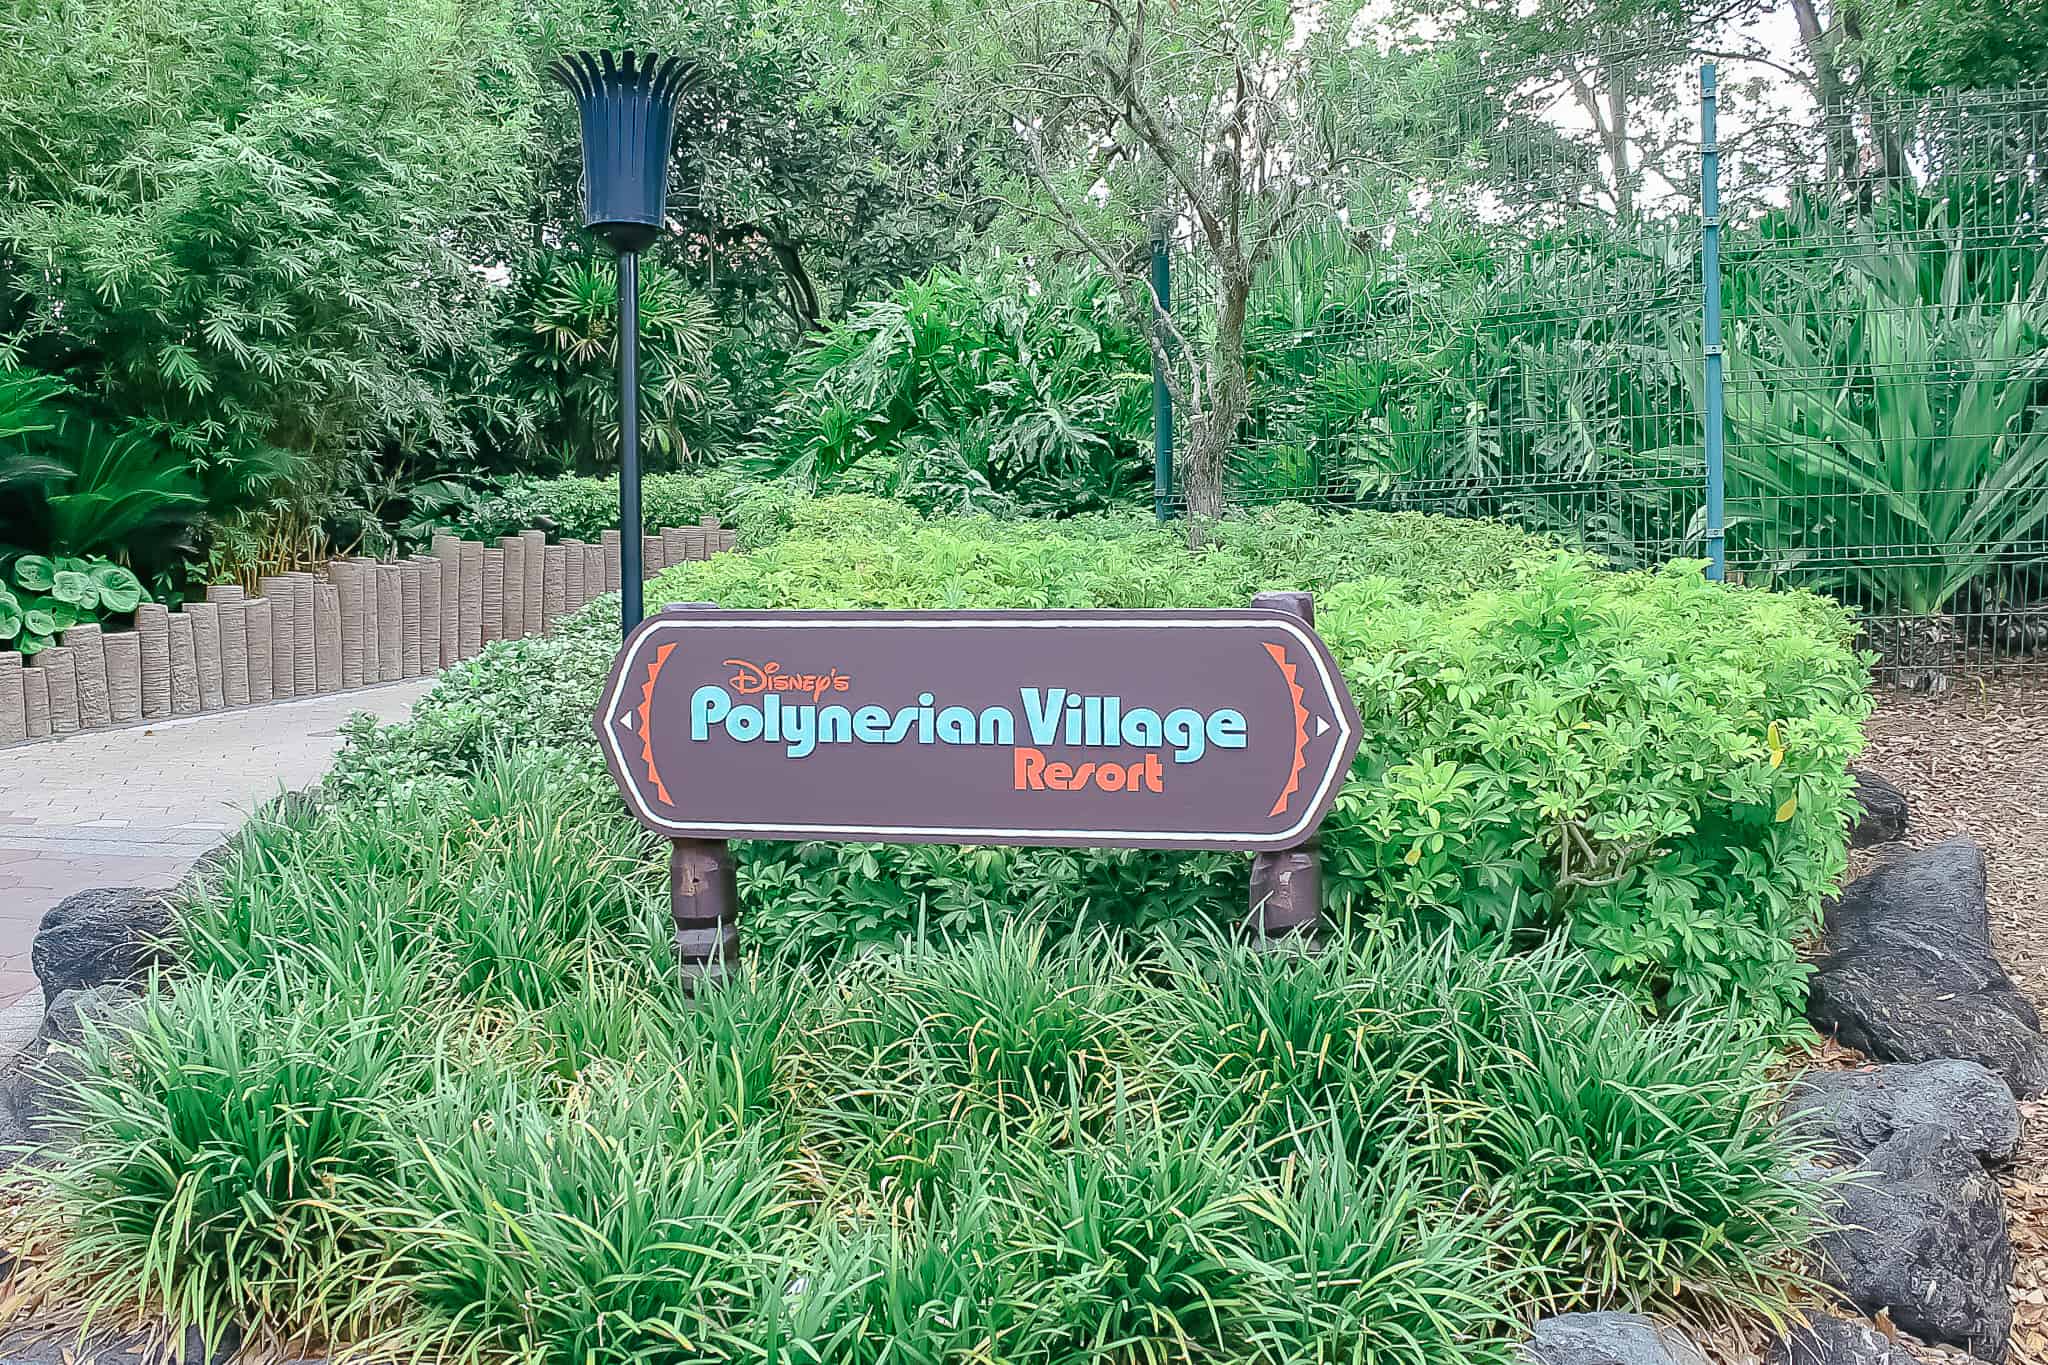
{"label": "large dark rock at right edge, bordering the brown mulch", "polygon": [[1985,853],[1962,837],[1896,853],[1841,892],[1806,1017],[1880,1062],[1966,1058],[2019,1099],[2048,1093],[2040,1019],[1991,952]]}

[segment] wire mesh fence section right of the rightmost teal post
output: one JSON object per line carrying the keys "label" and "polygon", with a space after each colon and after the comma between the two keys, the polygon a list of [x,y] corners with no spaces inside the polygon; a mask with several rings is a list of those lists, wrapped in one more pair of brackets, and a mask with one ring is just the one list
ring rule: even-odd
{"label": "wire mesh fence section right of the rightmost teal post", "polygon": [[2044,663],[2048,90],[1817,123],[1731,225],[1729,565],[1833,591],[1909,681]]}

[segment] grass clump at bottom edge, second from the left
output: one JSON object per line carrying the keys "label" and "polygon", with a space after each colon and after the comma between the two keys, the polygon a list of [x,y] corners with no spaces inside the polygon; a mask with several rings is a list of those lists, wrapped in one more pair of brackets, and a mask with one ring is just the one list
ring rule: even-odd
{"label": "grass clump at bottom edge, second from the left", "polygon": [[[645,1081],[645,1078],[641,1078]],[[578,1365],[731,1338],[772,1273],[778,1169],[758,1142],[670,1138],[670,1087],[598,1072],[565,1103],[451,1060],[416,1113],[387,1234],[401,1351]]]}

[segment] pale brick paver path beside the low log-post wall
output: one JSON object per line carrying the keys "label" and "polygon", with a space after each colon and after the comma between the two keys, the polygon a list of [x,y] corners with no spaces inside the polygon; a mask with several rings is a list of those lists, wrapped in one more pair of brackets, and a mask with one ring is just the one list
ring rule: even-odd
{"label": "pale brick paver path beside the low log-post wall", "polygon": [[432,679],[0,749],[0,1007],[37,990],[43,911],[90,886],[170,886],[281,790],[317,782],[340,724],[406,714]]}

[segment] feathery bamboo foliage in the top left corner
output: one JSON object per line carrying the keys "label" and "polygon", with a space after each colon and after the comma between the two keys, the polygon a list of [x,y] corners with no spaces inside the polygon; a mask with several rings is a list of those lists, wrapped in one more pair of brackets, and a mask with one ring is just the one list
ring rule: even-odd
{"label": "feathery bamboo foliage in the top left corner", "polygon": [[119,467],[233,520],[350,442],[465,440],[426,375],[475,336],[475,266],[510,235],[506,39],[434,0],[0,20],[0,364],[68,387],[80,481]]}

